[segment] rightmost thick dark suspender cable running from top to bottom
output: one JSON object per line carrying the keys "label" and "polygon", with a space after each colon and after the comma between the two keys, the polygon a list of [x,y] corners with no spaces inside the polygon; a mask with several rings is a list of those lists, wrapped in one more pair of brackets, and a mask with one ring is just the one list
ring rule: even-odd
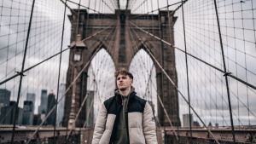
{"label": "rightmost thick dark suspender cable running from top to bottom", "polygon": [[225,73],[224,77],[225,77],[225,81],[226,81],[227,95],[228,95],[229,108],[230,108],[230,122],[231,122],[231,128],[232,128],[233,142],[235,144],[236,143],[236,137],[235,137],[235,130],[234,130],[234,124],[233,124],[233,117],[232,117],[232,108],[231,108],[231,102],[230,102],[230,88],[229,88],[229,82],[228,82],[228,75],[229,75],[229,73],[227,72],[226,65],[225,65],[224,48],[223,48],[221,31],[220,31],[220,26],[219,26],[218,9],[217,9],[216,0],[214,0],[214,6],[215,6],[215,12],[216,12],[217,24],[218,24],[218,36],[219,36],[219,41],[220,41],[219,44],[220,44],[220,48],[221,48],[221,52],[222,52],[222,58],[223,58],[223,63],[224,63],[224,73]]}

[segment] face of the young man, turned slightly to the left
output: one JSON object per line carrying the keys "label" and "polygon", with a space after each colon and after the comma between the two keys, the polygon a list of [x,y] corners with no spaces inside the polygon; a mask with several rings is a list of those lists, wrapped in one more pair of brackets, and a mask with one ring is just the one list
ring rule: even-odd
{"label": "face of the young man, turned slightly to the left", "polygon": [[131,87],[133,80],[128,75],[119,74],[116,78],[116,83],[118,85],[119,90],[125,90]]}

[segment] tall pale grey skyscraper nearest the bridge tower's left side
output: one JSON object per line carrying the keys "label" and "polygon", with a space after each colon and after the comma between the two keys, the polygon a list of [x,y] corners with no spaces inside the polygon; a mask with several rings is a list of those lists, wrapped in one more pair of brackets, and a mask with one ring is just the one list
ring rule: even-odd
{"label": "tall pale grey skyscraper nearest the bridge tower's left side", "polygon": [[60,103],[58,104],[58,108],[57,108],[57,119],[56,119],[56,124],[58,126],[61,126],[62,124],[62,118],[64,115],[64,104],[65,104],[65,96],[61,99],[61,97],[65,94],[66,91],[66,84],[61,84],[60,88],[59,88],[59,100]]}

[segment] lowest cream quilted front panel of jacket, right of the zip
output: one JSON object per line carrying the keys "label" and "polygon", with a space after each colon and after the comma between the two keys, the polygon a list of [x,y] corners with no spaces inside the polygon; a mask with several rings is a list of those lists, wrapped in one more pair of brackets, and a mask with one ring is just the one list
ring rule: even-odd
{"label": "lowest cream quilted front panel of jacket, right of the zip", "polygon": [[145,137],[143,134],[143,129],[131,128],[129,130],[130,143],[131,144],[145,144]]}

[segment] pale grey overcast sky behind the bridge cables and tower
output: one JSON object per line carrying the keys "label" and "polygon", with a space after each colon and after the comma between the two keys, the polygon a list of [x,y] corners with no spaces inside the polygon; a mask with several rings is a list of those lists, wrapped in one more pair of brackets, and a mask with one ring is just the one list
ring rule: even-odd
{"label": "pale grey overcast sky behind the bridge cables and tower", "polygon": [[[33,14],[32,31],[30,34],[29,46],[26,54],[25,69],[33,66],[41,60],[45,60],[51,55],[58,53],[61,49],[61,31],[63,21],[63,4],[59,1],[46,0],[44,2],[36,1],[36,7]],[[79,0],[74,1],[79,3]],[[104,13],[113,13],[112,1],[106,1],[111,7],[100,7],[100,0],[93,2],[82,1],[82,4],[91,9],[96,9]],[[134,1],[135,2],[135,1]],[[166,0],[160,1],[136,1],[132,4],[132,13],[148,13],[154,9],[158,9],[167,5]],[[159,2],[159,3],[158,3]],[[177,3],[180,1],[168,1],[168,4]],[[201,60],[205,60],[213,66],[217,66],[224,70],[222,61],[221,49],[218,37],[218,28],[216,23],[216,15],[212,5],[213,1],[189,1],[184,5],[185,14],[185,30],[187,38],[187,49],[189,54],[195,55]],[[233,4],[230,4],[233,2]],[[152,4],[151,4],[152,3]],[[26,43],[26,32],[28,27],[29,15],[31,11],[31,2],[17,3],[15,1],[3,1],[1,7],[1,29],[0,29],[0,79],[3,81],[15,74],[15,71],[21,69],[23,60],[23,49]],[[78,9],[78,6],[73,3],[67,3],[71,8]],[[253,11],[250,9],[256,8],[256,3],[246,1],[221,1],[218,3],[218,11],[222,37],[224,42],[224,54],[228,72],[232,72],[237,78],[256,85],[256,65],[254,64],[256,57],[255,43],[255,26],[256,21],[253,21]],[[120,1],[121,8],[125,6],[125,1]],[[224,5],[226,5],[224,7]],[[14,9],[9,9],[10,7]],[[177,5],[169,7],[170,10],[175,9]],[[19,9],[19,10],[18,10]],[[243,12],[241,12],[243,9]],[[166,10],[166,9],[164,9]],[[236,11],[232,13],[232,11]],[[157,14],[158,12],[154,12]],[[67,10],[67,14],[70,11]],[[9,16],[11,15],[11,16]],[[19,15],[19,16],[18,16]],[[255,15],[255,14],[254,14]],[[184,49],[183,44],[183,21],[181,9],[175,14],[177,21],[175,23],[175,45]],[[233,19],[234,18],[234,19]],[[243,18],[243,19],[241,19]],[[63,49],[67,48],[70,41],[70,22],[66,17],[65,35]],[[243,30],[244,29],[244,30]],[[191,106],[201,116],[206,124],[209,122],[218,123],[220,125],[230,125],[230,115],[228,107],[227,92],[223,73],[210,68],[194,58],[188,57],[189,60],[189,89]],[[68,50],[63,53],[61,64],[61,83],[66,83],[66,74],[68,66]],[[103,61],[102,64],[97,62]],[[113,60],[102,50],[92,61],[90,72],[109,73],[114,72]],[[147,68],[138,70],[138,66],[145,65]],[[185,56],[182,52],[176,50],[178,88],[188,99],[187,79],[185,69]],[[140,51],[131,62],[131,72],[134,72],[136,88],[139,95],[144,95],[148,81],[148,75],[152,68],[152,60],[148,58],[145,51]],[[39,105],[41,89],[47,89],[48,93],[56,93],[57,77],[58,77],[59,56],[45,62],[29,72],[26,72],[26,77],[23,78],[21,97],[19,106],[23,107],[23,101],[26,100],[26,93],[36,94],[36,105]],[[92,68],[91,68],[92,67]],[[93,70],[92,70],[93,69]],[[148,72],[147,72],[148,71]],[[155,68],[153,66],[152,85],[150,93],[153,95],[153,101],[156,101],[156,91],[153,88],[155,83]],[[90,73],[90,75],[93,75]],[[100,81],[106,78],[106,82]],[[93,78],[90,78],[93,79]],[[16,101],[17,89],[19,86],[20,77],[17,77],[6,84],[0,86],[1,89],[9,89],[11,91],[11,100]],[[103,101],[106,97],[103,92],[111,95],[113,88],[108,88],[107,85],[113,85],[113,76],[96,75],[98,84],[97,99]],[[89,85],[93,85],[90,80]],[[99,86],[101,85],[102,86]],[[256,107],[253,102],[256,101],[256,91],[246,87],[244,84],[237,82],[233,78],[229,78],[230,98],[233,110],[233,118],[236,125],[256,124]],[[91,86],[93,87],[93,86]],[[92,90],[92,88],[90,89]],[[101,99],[101,100],[100,100]],[[95,104],[98,107],[98,104]],[[188,104],[179,95],[180,118],[182,114],[188,113]],[[36,107],[35,112],[38,112]],[[96,108],[97,109],[97,108]],[[249,109],[249,111],[248,111]],[[194,113],[194,112],[192,112]],[[199,121],[195,117],[194,120]],[[238,122],[240,120],[240,122]]]}

